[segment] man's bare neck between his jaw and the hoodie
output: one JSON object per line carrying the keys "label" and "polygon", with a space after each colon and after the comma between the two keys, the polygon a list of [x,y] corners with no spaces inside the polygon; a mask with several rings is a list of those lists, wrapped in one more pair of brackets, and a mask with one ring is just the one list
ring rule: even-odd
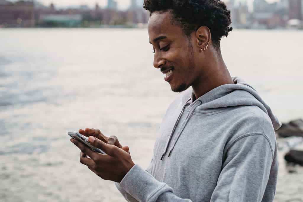
{"label": "man's bare neck between his jaw and the hoodie", "polygon": [[196,99],[218,86],[234,83],[223,59],[212,62],[209,68],[204,69],[208,69],[208,71],[203,72],[191,85]]}

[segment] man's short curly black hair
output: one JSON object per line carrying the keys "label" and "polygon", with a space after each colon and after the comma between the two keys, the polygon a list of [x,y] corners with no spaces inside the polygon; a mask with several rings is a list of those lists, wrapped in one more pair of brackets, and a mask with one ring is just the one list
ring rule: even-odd
{"label": "man's short curly black hair", "polygon": [[144,0],[143,8],[150,12],[164,13],[171,10],[173,20],[181,25],[186,36],[205,25],[211,31],[211,40],[220,49],[222,36],[232,30],[230,11],[218,0]]}

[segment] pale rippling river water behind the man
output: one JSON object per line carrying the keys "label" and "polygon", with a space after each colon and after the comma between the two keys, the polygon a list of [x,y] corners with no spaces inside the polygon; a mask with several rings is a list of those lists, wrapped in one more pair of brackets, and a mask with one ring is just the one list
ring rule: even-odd
{"label": "pale rippling river water behind the man", "polygon": [[[233,30],[221,46],[231,75],[282,122],[303,118],[302,31]],[[123,201],[79,162],[67,131],[116,135],[147,167],[178,95],[152,60],[144,29],[0,29],[0,201]],[[303,201],[303,168],[286,165],[285,152],[275,201]]]}

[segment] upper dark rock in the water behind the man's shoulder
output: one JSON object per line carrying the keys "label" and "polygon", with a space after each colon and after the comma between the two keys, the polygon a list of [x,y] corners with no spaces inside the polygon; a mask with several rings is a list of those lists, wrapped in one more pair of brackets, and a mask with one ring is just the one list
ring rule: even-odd
{"label": "upper dark rock in the water behind the man's shoulder", "polygon": [[297,119],[286,124],[282,123],[282,126],[276,130],[276,133],[281,137],[303,137],[303,120]]}

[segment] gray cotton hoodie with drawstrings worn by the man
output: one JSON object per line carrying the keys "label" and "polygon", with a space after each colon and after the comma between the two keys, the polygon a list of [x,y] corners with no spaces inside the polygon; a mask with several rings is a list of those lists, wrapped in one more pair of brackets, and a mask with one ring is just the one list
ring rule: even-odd
{"label": "gray cotton hoodie with drawstrings worn by the man", "polygon": [[281,123],[239,77],[168,107],[147,170],[135,165],[118,190],[128,201],[273,201]]}

